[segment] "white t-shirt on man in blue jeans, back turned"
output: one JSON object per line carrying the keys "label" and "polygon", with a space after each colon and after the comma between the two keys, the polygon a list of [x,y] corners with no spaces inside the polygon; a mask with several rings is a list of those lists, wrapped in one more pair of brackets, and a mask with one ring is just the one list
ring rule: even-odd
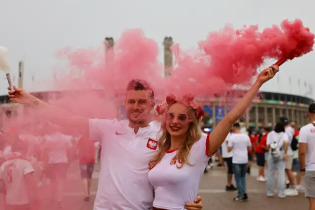
{"label": "white t-shirt on man in blue jeans, back turned", "polygon": [[232,163],[248,163],[248,148],[252,146],[250,137],[245,133],[232,133],[228,138],[228,147],[232,147]]}

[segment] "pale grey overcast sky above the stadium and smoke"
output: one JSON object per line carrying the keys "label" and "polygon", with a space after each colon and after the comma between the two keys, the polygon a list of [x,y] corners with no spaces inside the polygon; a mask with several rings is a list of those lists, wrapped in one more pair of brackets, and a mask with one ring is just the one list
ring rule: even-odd
{"label": "pale grey overcast sky above the stadium and smoke", "polygon": [[[42,91],[44,86],[34,89],[33,75],[35,82],[50,80],[54,53],[65,46],[94,47],[105,36],[117,39],[126,29],[142,28],[160,45],[162,59],[165,36],[189,48],[228,23],[235,28],[258,24],[263,29],[299,18],[315,32],[314,8],[311,0],[0,0],[0,45],[10,51],[13,77],[23,60],[24,87]],[[5,78],[3,73],[1,77]],[[314,83],[314,78],[312,52],[284,64],[279,79],[267,82],[262,90],[305,95],[304,83]],[[1,95],[6,87],[1,79]]]}

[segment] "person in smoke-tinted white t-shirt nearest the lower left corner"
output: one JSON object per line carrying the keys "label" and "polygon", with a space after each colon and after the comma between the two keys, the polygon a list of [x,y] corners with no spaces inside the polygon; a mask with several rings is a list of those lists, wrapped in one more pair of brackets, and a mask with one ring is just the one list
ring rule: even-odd
{"label": "person in smoke-tinted white t-shirt nearest the lower left corner", "polygon": [[28,144],[16,140],[10,156],[0,167],[0,179],[5,187],[5,210],[35,210],[35,184],[32,164],[24,156]]}

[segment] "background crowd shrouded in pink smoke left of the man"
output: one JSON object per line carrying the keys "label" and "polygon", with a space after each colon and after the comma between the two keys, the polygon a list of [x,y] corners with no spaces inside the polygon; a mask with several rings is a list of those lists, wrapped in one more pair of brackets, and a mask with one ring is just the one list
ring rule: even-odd
{"label": "background crowd shrouded in pink smoke left of the man", "polygon": [[[77,162],[84,200],[89,201],[94,164],[99,158],[98,142],[87,141],[82,135],[65,134],[53,124],[48,126],[46,134],[21,133],[14,128],[1,132],[0,193],[5,195],[5,210],[14,206],[27,210],[29,204],[37,203],[31,200],[36,199],[38,193],[46,192],[40,188],[43,186],[48,186],[52,204],[62,208],[67,170]],[[23,184],[28,190],[21,188]]]}

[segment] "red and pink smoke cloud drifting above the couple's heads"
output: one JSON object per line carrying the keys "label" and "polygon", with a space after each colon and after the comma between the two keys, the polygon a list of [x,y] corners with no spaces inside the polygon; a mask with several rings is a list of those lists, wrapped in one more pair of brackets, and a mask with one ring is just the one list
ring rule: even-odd
{"label": "red and pink smoke cloud drifting above the couple's heads", "polygon": [[[115,118],[125,102],[127,82],[134,78],[149,81],[159,99],[164,100],[170,93],[177,96],[191,93],[208,97],[208,100],[215,93],[232,90],[235,84],[250,85],[265,59],[288,55],[288,59],[293,59],[311,52],[314,38],[315,35],[300,20],[285,20],[281,27],[272,26],[262,32],[258,31],[258,26],[244,26],[237,30],[225,26],[210,32],[196,49],[181,50],[178,44],[173,45],[174,65],[169,69],[171,76],[164,78],[158,44],[145,37],[142,30],[127,30],[107,53],[106,60],[103,46],[79,50],[66,47],[58,51],[60,64],[56,67],[58,78],[54,86],[58,90],[62,87],[73,91],[61,93],[50,99],[50,103],[77,115]],[[285,72],[285,69],[281,71]],[[24,111],[20,134],[44,136],[59,129],[47,124],[48,120],[36,115],[33,109]],[[40,128],[39,123],[43,124]],[[66,134],[78,135],[80,132],[72,131],[77,130],[63,128]],[[42,199],[44,189],[40,188],[39,192],[38,199]]]}

